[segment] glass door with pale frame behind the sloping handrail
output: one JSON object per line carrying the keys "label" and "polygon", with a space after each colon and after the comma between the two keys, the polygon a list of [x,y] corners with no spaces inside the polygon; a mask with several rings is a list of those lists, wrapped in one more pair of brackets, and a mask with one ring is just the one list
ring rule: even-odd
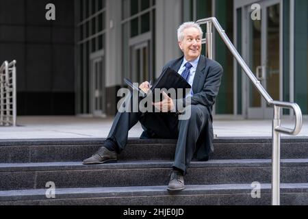
{"label": "glass door with pale frame behind the sloping handrail", "polygon": [[[272,99],[281,100],[282,1],[261,1],[259,4],[261,20],[253,21],[250,7],[246,9],[246,60]],[[247,86],[248,118],[272,118],[272,107],[268,107],[251,81]]]}

